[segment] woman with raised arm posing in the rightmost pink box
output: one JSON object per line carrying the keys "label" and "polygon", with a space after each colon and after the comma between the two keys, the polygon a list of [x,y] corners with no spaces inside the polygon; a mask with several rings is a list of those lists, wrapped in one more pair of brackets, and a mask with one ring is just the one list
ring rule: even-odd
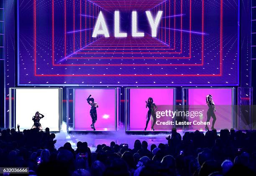
{"label": "woman with raised arm posing in the rightmost pink box", "polygon": [[[214,128],[214,124],[215,124],[215,121],[216,121],[216,116],[215,116],[214,112],[216,111],[216,109],[215,109],[215,104],[212,100],[212,95],[209,94],[209,95],[206,96],[206,104],[208,105],[206,122],[209,122],[211,117],[212,117],[213,120],[212,120],[212,128],[211,129],[216,130]],[[206,131],[209,130],[209,127],[207,125],[205,126],[205,130]]]}

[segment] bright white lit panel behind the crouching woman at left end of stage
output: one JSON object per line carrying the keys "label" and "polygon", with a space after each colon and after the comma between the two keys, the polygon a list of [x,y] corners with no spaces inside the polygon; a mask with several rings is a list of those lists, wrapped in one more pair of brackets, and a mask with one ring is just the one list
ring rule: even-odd
{"label": "bright white lit panel behind the crouching woman at left end of stage", "polygon": [[16,89],[15,124],[20,129],[31,129],[37,111],[44,115],[40,123],[45,130],[59,131],[59,89]]}

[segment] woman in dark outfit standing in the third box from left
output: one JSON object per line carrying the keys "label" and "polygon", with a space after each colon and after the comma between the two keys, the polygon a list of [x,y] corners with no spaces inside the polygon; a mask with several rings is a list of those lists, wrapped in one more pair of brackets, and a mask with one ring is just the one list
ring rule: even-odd
{"label": "woman in dark outfit standing in the third box from left", "polygon": [[156,124],[156,104],[153,103],[153,98],[149,97],[148,101],[146,101],[146,108],[148,107],[148,113],[146,116],[146,127],[145,127],[145,131],[147,130],[148,127],[148,122],[150,120],[150,117],[153,117],[153,124],[151,126],[151,130],[155,131],[154,129],[154,125]]}

